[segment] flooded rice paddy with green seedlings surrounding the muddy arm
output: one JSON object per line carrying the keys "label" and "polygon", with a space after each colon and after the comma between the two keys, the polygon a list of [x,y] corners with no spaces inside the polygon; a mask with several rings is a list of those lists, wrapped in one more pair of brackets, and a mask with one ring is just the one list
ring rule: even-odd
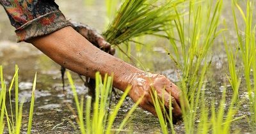
{"label": "flooded rice paddy with green seedlings surrounding the muddy arm", "polygon": [[256,133],[254,0],[56,3],[67,19],[103,33],[116,57],[177,84],[182,121],[173,124],[157,98],[155,117],[125,93],[111,93],[111,77],[97,75],[92,105],[76,73],[68,71],[63,90],[60,66],[16,43],[0,6],[0,133]]}

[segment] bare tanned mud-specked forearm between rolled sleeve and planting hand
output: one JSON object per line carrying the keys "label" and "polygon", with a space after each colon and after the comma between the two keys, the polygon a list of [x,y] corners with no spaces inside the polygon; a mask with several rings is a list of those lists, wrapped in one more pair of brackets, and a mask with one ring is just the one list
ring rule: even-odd
{"label": "bare tanned mud-specked forearm between rolled sleeve and planting hand", "polygon": [[141,72],[138,68],[103,52],[77,33],[72,27],[65,27],[47,36],[29,40],[56,63],[81,75],[95,77],[114,74],[114,86],[124,91],[130,83],[132,73]]}

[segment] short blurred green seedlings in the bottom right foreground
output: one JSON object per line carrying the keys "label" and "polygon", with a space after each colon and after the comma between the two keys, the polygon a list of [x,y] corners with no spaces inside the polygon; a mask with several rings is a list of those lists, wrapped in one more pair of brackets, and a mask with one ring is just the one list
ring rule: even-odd
{"label": "short blurred green seedlings in the bottom right foreground", "polygon": [[[203,89],[204,88],[205,86],[203,86]],[[188,124],[191,124],[191,126],[193,125],[193,127],[189,127],[189,129],[185,128],[186,133],[230,133],[231,123],[245,117],[235,117],[240,107],[239,103],[237,103],[237,94],[233,94],[231,102],[227,107],[227,89],[224,89],[221,100],[217,100],[219,102],[219,106],[217,107],[215,105],[216,100],[212,100],[211,108],[209,108],[207,106],[207,102],[205,101],[206,98],[204,91],[205,90],[202,90],[200,93],[200,106],[198,106],[200,111],[197,113],[198,115],[196,115],[198,116],[196,117],[198,124],[189,121]],[[227,112],[225,112],[226,107]],[[190,112],[195,112],[196,114],[196,108]],[[186,124],[186,121],[188,120],[184,120],[184,124]]]}

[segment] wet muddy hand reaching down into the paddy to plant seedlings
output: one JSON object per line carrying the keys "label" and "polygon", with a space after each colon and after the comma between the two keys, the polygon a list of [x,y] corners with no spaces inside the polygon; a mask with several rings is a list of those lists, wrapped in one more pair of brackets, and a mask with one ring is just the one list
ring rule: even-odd
{"label": "wet muddy hand reaching down into the paddy to plant seedlings", "polygon": [[168,78],[160,74],[136,73],[131,79],[132,89],[129,96],[132,100],[136,102],[143,94],[145,95],[140,103],[141,108],[157,115],[151,97],[152,90],[156,90],[157,96],[164,99],[162,101],[164,101],[166,108],[170,108],[169,102],[172,99],[173,122],[181,119],[182,113],[179,105],[180,90]]}

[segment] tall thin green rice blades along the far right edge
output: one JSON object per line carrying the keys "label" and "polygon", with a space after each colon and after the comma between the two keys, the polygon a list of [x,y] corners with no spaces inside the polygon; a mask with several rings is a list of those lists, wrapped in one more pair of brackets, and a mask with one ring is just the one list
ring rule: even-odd
{"label": "tall thin green rice blades along the far right edge", "polygon": [[[232,13],[234,17],[234,25],[236,28],[237,40],[239,45],[239,56],[243,61],[243,73],[246,81],[246,87],[248,91],[249,101],[250,101],[250,111],[252,113],[256,112],[256,44],[255,44],[255,26],[253,27],[253,6],[255,5],[254,1],[248,0],[246,4],[246,12],[237,4],[237,1],[232,0]],[[244,35],[240,31],[237,23],[236,10],[241,13],[243,22],[245,25]],[[252,71],[251,71],[252,70]],[[252,78],[251,78],[252,76]],[[252,86],[254,84],[254,86]],[[256,114],[252,115],[252,122],[256,122]]]}

